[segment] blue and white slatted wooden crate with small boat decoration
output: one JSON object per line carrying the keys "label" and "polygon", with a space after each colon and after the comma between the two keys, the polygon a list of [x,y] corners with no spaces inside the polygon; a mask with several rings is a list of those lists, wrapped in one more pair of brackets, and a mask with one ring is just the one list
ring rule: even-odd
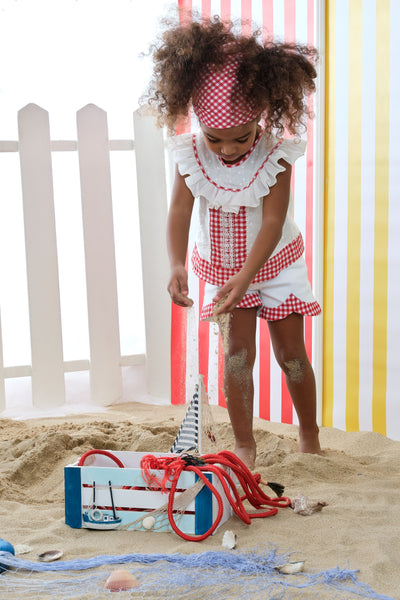
{"label": "blue and white slatted wooden crate with small boat decoration", "polygon": [[[124,465],[120,468],[101,454],[92,454],[88,465],[78,463],[64,469],[65,481],[65,522],[73,528],[89,529],[130,529],[144,530],[141,519],[152,515],[168,501],[168,494],[159,488],[151,488],[143,479],[140,461],[148,453],[113,451]],[[170,454],[152,453],[154,456]],[[151,471],[158,480],[163,471]],[[218,478],[213,473],[205,473],[221,494],[224,503],[222,525],[232,515],[232,508],[226,499]],[[177,483],[178,497],[195,485],[198,476],[183,471]],[[93,484],[95,484],[95,505],[93,504]],[[111,489],[111,495],[110,495]],[[206,533],[218,513],[218,505],[211,491],[204,486],[195,499],[179,515],[179,529],[189,535]],[[88,517],[90,516],[90,518]],[[157,515],[157,513],[156,513]],[[156,516],[154,531],[172,531],[168,520]],[[135,525],[132,527],[132,523]],[[139,525],[138,525],[139,523]],[[97,525],[96,525],[97,524]]]}

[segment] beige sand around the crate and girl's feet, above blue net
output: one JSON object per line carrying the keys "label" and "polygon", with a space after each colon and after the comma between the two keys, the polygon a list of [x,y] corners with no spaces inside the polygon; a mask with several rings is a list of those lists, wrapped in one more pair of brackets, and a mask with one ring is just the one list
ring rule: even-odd
{"label": "beige sand around the crate and girl's feet, above blue net", "polygon": [[[26,421],[0,418],[0,537],[14,546],[32,548],[21,558],[36,560],[43,551],[62,549],[63,558],[70,560],[99,554],[220,550],[222,535],[230,529],[237,535],[239,550],[275,544],[280,551],[295,552],[293,560],[305,560],[309,571],[358,569],[360,581],[380,594],[400,598],[400,442],[377,433],[322,428],[324,455],[303,455],[296,450],[295,425],[255,419],[256,471],[264,480],[284,484],[291,498],[303,494],[327,503],[311,516],[281,509],[251,525],[232,517],[201,543],[184,541],[174,533],[88,531],[65,525],[65,465],[91,448],[167,452],[184,412],[183,406],[130,403],[96,414]],[[219,443],[232,449],[226,410],[213,407],[213,417]]]}

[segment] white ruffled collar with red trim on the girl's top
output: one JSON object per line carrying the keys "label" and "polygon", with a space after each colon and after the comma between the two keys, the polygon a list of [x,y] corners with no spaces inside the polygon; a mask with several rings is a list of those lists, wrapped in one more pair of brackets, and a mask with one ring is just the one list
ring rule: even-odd
{"label": "white ruffled collar with red trim on the girl's top", "polygon": [[285,170],[279,160],[293,164],[304,154],[306,142],[261,135],[235,165],[221,163],[207,148],[201,132],[172,137],[169,147],[179,173],[187,175],[186,184],[193,196],[206,198],[210,208],[238,213],[241,206],[260,204],[276,183],[278,173]]}

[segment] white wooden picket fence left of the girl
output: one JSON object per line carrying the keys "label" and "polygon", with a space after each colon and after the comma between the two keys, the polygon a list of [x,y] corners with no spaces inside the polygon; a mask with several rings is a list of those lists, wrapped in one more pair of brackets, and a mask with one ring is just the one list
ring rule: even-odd
{"label": "white wooden picket fence left of the girl", "polygon": [[[29,104],[18,113],[19,140],[0,141],[0,152],[19,152],[20,157],[31,343],[31,364],[5,367],[0,320],[0,410],[7,406],[5,380],[27,376],[34,406],[62,406],[65,373],[74,371],[89,371],[91,400],[110,405],[122,396],[122,368],[143,363],[148,394],[170,395],[164,138],[151,115],[136,112],[133,119],[134,140],[109,140],[106,113],[87,105],[77,112],[77,140],[52,141],[49,114]],[[136,168],[145,355],[121,356],[120,350],[110,177],[110,152],[115,150],[131,152]],[[52,153],[66,151],[79,157],[90,346],[89,358],[76,361],[63,358],[52,172]]]}

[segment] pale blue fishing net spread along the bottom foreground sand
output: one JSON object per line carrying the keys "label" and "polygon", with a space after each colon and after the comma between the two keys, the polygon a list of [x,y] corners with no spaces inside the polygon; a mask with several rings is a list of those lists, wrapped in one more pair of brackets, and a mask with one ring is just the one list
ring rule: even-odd
{"label": "pale blue fishing net spread along the bottom foreground sand", "polygon": [[[339,568],[285,575],[277,567],[291,561],[276,548],[199,554],[103,555],[90,559],[32,562],[0,552],[0,597],[7,600],[110,598],[104,584],[114,568],[129,570],[139,582],[118,592],[121,600],[395,600],[358,581],[357,571]],[[112,598],[115,596],[113,595]]]}

